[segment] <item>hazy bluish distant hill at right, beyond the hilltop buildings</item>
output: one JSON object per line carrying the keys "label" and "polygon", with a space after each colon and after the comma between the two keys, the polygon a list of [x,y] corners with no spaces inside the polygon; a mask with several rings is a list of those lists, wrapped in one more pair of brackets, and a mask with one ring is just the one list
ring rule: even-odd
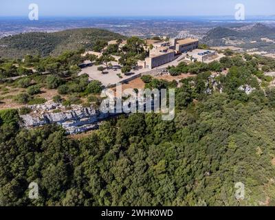
{"label": "hazy bluish distant hill at right, beyond the hilltop buildings", "polygon": [[210,46],[243,45],[251,41],[261,42],[261,38],[275,40],[275,29],[261,23],[245,25],[241,28],[214,28],[203,37],[203,43]]}

